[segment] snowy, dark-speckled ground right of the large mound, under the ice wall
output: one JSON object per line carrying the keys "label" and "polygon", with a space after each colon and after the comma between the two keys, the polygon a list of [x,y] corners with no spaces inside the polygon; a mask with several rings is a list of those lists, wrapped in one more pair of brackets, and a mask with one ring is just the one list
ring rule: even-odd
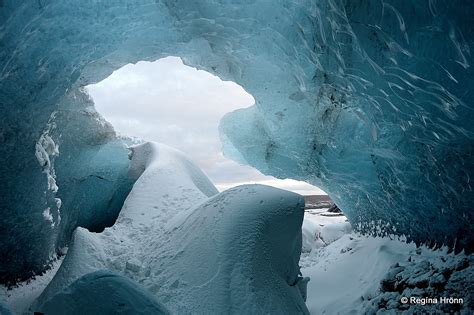
{"label": "snowy, dark-speckled ground right of the large mound, under the ice wall", "polygon": [[[351,231],[345,216],[326,216],[325,210],[307,211],[303,222],[300,265],[311,279],[306,300],[311,314],[472,310],[472,255],[417,247],[394,236],[363,236]],[[463,303],[440,303],[443,296]],[[438,303],[404,304],[402,297],[432,297]]]}

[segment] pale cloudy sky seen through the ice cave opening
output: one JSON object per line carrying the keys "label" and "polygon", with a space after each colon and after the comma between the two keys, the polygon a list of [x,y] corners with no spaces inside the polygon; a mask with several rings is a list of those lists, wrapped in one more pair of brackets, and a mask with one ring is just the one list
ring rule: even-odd
{"label": "pale cloudy sky seen through the ice cave opening", "polygon": [[128,64],[86,90],[117,133],[183,151],[220,191],[259,183],[302,195],[325,194],[307,183],[265,176],[224,157],[220,119],[253,105],[254,99],[240,85],[185,66],[178,57]]}

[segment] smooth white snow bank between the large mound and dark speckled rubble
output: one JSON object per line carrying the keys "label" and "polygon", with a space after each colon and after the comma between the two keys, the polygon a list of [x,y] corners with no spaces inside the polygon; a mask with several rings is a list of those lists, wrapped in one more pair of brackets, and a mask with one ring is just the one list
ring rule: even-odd
{"label": "smooth white snow bank between the large mound and dark speckled rubble", "polygon": [[408,257],[414,244],[346,234],[302,257],[310,277],[306,305],[311,314],[363,313],[361,296],[375,295],[389,267]]}

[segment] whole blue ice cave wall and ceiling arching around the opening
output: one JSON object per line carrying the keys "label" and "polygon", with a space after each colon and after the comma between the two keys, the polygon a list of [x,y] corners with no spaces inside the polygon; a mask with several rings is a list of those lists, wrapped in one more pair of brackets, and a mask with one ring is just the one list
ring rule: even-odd
{"label": "whole blue ice cave wall and ceiling arching around the opening", "polygon": [[[81,87],[173,55],[256,105],[226,154],[321,187],[362,231],[473,248],[471,1],[0,2],[0,281],[40,272],[136,178]],[[135,174],[137,175],[137,174]]]}

